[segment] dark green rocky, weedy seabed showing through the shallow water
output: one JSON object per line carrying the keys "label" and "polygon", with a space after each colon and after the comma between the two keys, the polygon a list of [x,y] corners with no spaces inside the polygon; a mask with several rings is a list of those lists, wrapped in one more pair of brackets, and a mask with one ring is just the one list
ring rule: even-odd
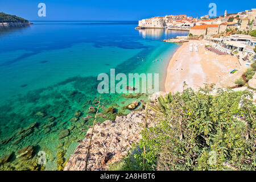
{"label": "dark green rocky, weedy seabed showing through the shallow water", "polygon": [[[92,125],[94,114],[89,113],[89,107],[93,106],[96,97],[100,96],[96,79],[81,76],[68,78],[54,86],[19,95],[13,98],[11,105],[0,107],[0,152],[3,157],[10,153],[13,155],[10,161],[1,164],[0,170],[63,168],[72,154],[71,151],[77,146],[77,139],[84,138],[81,128],[88,129]],[[113,110],[106,112],[104,117],[98,119],[99,122],[114,120],[118,115],[130,112],[122,108],[131,101],[126,101],[120,94],[101,96],[104,98],[102,104]],[[88,114],[91,118],[85,120],[84,117]],[[32,153],[30,158],[26,159],[27,162],[17,157],[24,147],[33,148],[30,149]],[[38,149],[35,148],[46,152],[46,165],[36,163]]]}

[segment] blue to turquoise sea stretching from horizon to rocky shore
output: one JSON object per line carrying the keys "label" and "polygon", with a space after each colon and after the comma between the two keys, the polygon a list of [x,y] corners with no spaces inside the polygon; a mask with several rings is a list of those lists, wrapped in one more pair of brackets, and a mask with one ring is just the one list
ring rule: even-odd
{"label": "blue to turquoise sea stretching from horizon to rocky shore", "polygon": [[[159,73],[163,90],[166,66],[178,46],[160,40],[187,35],[162,29],[138,31],[134,29],[137,22],[33,23],[0,31],[0,153],[13,152],[2,170],[35,166],[16,158],[17,151],[28,145],[35,148],[30,160],[36,160],[38,151],[45,151],[45,169],[57,169],[57,152],[64,151],[67,160],[76,140],[84,139],[80,129],[93,122],[82,117],[100,96],[97,75],[112,68],[116,74]],[[161,61],[153,63],[156,59]],[[129,110],[122,107],[143,98],[102,97],[103,105],[114,107],[119,114],[127,114]],[[82,115],[73,122],[77,110]],[[108,114],[107,119],[116,115]],[[36,126],[28,127],[34,122]],[[65,129],[68,137],[59,139]]]}

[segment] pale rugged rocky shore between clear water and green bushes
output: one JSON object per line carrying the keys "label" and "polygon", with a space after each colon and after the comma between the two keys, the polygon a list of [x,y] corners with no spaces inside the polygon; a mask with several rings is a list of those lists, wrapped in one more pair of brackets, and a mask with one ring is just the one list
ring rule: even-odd
{"label": "pale rugged rocky shore between clear water and green bushes", "polygon": [[[155,102],[164,92],[154,93],[150,100]],[[145,103],[144,103],[145,104]],[[137,102],[131,103],[136,106]],[[143,105],[143,108],[145,105]],[[87,170],[106,170],[110,164],[117,163],[132,149],[132,144],[137,143],[141,138],[141,131],[145,121],[145,109],[132,111],[126,116],[119,116],[114,121],[97,123],[94,127],[92,144],[90,148],[89,162]],[[149,110],[150,116],[147,126],[153,126],[154,112]],[[88,150],[89,138],[92,129],[89,129],[84,140],[78,141],[80,144],[69,158],[65,165],[65,171],[84,171],[86,164],[86,152]]]}

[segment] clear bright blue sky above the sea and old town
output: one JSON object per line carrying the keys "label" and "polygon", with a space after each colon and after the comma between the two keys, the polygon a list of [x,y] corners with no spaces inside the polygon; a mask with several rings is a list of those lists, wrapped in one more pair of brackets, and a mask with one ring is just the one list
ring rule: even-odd
{"label": "clear bright blue sky above the sea and old town", "polygon": [[[45,3],[47,16],[38,16],[38,4]],[[152,16],[208,14],[209,3],[216,3],[217,15],[256,8],[255,1],[150,1],[150,0],[0,0],[0,12],[28,20],[138,20]],[[254,2],[254,3],[253,3]]]}

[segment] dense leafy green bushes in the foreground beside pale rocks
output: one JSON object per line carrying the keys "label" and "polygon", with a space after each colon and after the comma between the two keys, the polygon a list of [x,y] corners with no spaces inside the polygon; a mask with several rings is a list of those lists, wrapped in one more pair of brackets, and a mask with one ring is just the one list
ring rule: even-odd
{"label": "dense leafy green bushes in the foreground beside pale rocks", "polygon": [[160,97],[150,106],[158,113],[155,126],[142,131],[126,164],[137,170],[255,170],[252,93],[219,89],[213,96],[210,91],[189,88]]}

